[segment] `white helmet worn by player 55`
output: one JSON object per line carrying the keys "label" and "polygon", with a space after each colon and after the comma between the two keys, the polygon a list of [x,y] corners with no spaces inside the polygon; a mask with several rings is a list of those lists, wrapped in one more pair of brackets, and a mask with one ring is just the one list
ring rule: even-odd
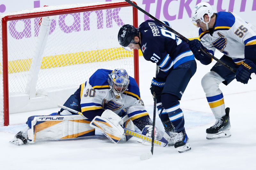
{"label": "white helmet worn by player 55", "polygon": [[191,12],[191,18],[194,22],[203,22],[204,24],[207,24],[204,22],[204,15],[207,14],[209,16],[210,22],[212,15],[214,14],[214,11],[212,9],[212,6],[208,4],[207,2],[201,2],[196,5],[196,7]]}

